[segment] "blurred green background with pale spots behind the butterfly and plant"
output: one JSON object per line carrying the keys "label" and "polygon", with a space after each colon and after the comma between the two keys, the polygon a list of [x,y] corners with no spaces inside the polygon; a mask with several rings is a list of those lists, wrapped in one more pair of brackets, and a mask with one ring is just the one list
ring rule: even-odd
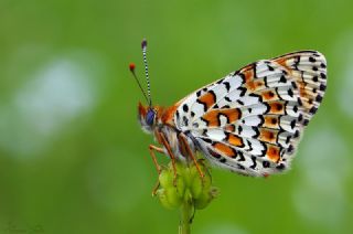
{"label": "blurred green background with pale spots behind the butterfly and plant", "polygon": [[[292,170],[267,180],[213,170],[221,196],[193,233],[353,228],[352,1],[0,1],[0,233],[176,233],[151,190],[143,78],[172,105],[247,63],[325,54],[329,87]],[[163,163],[168,162],[161,157]]]}

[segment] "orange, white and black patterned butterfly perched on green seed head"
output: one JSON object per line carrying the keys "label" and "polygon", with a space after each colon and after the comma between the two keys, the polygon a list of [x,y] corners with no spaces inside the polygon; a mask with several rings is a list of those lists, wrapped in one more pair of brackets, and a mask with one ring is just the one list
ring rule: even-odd
{"label": "orange, white and black patterned butterfly perched on green seed head", "polygon": [[212,164],[244,176],[286,171],[327,89],[325,57],[298,51],[248,64],[161,107],[152,105],[146,53],[143,40],[148,95],[133,64],[130,71],[148,102],[138,106],[141,127],[161,146],[149,146],[158,171],[156,151],[169,156],[173,166],[180,160],[197,167],[201,152]]}

